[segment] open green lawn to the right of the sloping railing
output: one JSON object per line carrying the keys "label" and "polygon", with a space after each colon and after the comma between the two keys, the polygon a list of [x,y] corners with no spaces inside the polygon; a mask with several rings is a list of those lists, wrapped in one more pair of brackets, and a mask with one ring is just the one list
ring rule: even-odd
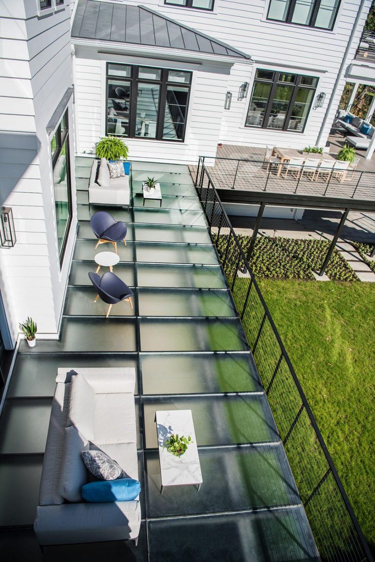
{"label": "open green lawn to the right of the sloping railing", "polygon": [[375,287],[259,280],[333,462],[375,548]]}

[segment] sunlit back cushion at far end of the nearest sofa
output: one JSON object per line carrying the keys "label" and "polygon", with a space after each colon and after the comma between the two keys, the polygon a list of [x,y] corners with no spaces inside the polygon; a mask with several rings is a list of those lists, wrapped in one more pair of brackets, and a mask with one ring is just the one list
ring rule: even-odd
{"label": "sunlit back cushion at far end of the nearest sofa", "polygon": [[71,378],[67,427],[75,425],[89,440],[94,438],[95,392],[83,375]]}

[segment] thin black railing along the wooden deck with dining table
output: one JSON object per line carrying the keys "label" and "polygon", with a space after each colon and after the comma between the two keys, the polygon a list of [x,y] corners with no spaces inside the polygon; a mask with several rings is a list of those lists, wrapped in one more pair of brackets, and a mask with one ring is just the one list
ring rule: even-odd
{"label": "thin black railing along the wooden deck with dining table", "polygon": [[[306,159],[308,155],[300,157]],[[355,162],[347,170],[317,166],[314,171],[311,166],[295,166],[281,160],[269,162],[257,155],[254,159],[200,156],[197,178],[203,162],[206,167],[209,163],[217,189],[375,200],[375,172],[359,171]]]}

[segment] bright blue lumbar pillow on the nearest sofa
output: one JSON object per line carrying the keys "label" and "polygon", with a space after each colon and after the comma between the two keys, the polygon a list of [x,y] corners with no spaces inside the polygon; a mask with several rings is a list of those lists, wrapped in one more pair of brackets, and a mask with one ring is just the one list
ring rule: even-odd
{"label": "bright blue lumbar pillow on the nearest sofa", "polygon": [[140,493],[140,483],[132,478],[89,482],[81,488],[82,497],[89,502],[130,501]]}

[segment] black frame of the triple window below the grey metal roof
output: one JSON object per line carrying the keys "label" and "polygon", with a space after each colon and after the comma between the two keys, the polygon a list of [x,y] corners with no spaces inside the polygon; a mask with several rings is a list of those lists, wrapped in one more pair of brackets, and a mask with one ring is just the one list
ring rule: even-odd
{"label": "black frame of the triple window below the grey metal roof", "polygon": [[[129,66],[130,76],[119,76],[116,74],[110,74],[109,65],[112,66]],[[149,78],[139,78],[139,69],[150,68],[157,69],[161,71],[161,77],[158,80],[152,80]],[[179,82],[176,80],[168,80],[169,72],[186,72],[189,74],[189,83]],[[142,140],[157,140],[158,142],[173,142],[173,143],[184,143],[186,135],[186,122],[187,114],[189,112],[189,102],[190,102],[190,92],[191,92],[191,81],[193,78],[193,72],[183,69],[163,69],[158,66],[146,66],[146,65],[127,65],[125,63],[107,62],[106,64],[106,130],[105,134],[113,135],[115,137],[126,138],[126,139],[142,139]],[[122,134],[116,135],[114,133],[108,133],[108,80],[116,80],[118,82],[123,81],[124,84],[130,82],[130,105],[129,105],[129,135],[125,137]],[[136,107],[138,98],[138,84],[158,84],[159,85],[159,100],[158,100],[158,111],[157,111],[157,127],[156,136],[152,137],[140,137],[135,134],[136,129]],[[184,123],[184,134],[182,139],[167,139],[163,138],[163,127],[164,127],[164,115],[167,103],[167,87],[168,86],[181,86],[187,89],[187,99],[186,99],[186,115]]]}

